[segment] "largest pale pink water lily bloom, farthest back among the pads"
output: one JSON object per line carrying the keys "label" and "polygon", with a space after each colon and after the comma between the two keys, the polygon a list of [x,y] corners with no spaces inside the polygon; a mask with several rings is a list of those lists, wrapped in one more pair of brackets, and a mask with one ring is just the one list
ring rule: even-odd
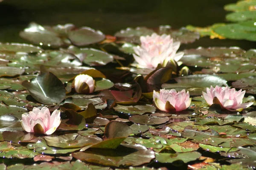
{"label": "largest pale pink water lily bloom, farthest back among the pads", "polygon": [[183,57],[184,53],[176,54],[180,47],[180,42],[173,42],[170,35],[141,36],[141,45],[134,47],[133,54],[138,68],[156,68],[158,64],[163,64],[165,59],[174,59],[176,62]]}

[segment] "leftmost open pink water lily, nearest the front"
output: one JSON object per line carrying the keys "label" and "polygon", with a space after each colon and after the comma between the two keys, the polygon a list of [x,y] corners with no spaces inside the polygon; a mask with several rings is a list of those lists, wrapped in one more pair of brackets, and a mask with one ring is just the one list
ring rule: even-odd
{"label": "leftmost open pink water lily, nearest the front", "polygon": [[21,126],[29,133],[40,133],[50,135],[61,124],[61,112],[55,110],[50,115],[50,111],[47,107],[43,107],[41,110],[33,108],[33,111],[22,114]]}

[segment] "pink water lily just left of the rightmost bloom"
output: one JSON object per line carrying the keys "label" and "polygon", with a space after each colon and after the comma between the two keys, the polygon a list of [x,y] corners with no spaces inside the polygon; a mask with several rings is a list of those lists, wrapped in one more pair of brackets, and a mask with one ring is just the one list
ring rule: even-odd
{"label": "pink water lily just left of the rightmost bloom", "polygon": [[189,98],[189,91],[186,93],[185,90],[177,92],[175,89],[161,89],[160,93],[153,92],[153,101],[160,111],[174,112],[188,108],[191,98]]}

